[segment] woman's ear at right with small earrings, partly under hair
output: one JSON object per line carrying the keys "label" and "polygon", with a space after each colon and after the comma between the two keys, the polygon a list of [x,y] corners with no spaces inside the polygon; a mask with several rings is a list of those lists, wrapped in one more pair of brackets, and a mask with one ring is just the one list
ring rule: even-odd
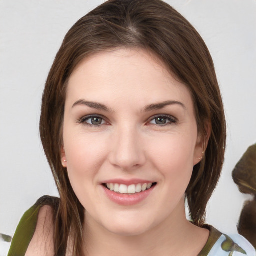
{"label": "woman's ear at right with small earrings, partly under hair", "polygon": [[204,152],[207,148],[208,141],[210,138],[210,130],[211,130],[211,125],[209,121],[206,121],[205,122],[206,136],[204,137],[201,133],[198,133],[197,135],[197,141],[194,148],[193,165],[196,165],[198,162],[200,162],[204,156]]}

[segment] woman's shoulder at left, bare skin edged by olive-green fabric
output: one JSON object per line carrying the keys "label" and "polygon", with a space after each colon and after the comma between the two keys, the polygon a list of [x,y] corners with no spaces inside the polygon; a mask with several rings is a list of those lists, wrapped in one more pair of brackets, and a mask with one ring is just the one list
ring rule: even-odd
{"label": "woman's shoulder at left, bare skin edged by olive-green fabric", "polygon": [[52,243],[53,216],[58,204],[59,198],[45,195],[23,214],[8,255],[40,255],[38,248]]}

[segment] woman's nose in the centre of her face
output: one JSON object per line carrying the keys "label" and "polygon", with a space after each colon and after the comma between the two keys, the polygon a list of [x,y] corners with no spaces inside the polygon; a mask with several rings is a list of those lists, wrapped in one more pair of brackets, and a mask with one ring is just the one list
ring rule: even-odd
{"label": "woman's nose in the centre of her face", "polygon": [[123,170],[132,170],[142,166],[146,157],[139,131],[127,126],[119,128],[112,137],[109,161]]}

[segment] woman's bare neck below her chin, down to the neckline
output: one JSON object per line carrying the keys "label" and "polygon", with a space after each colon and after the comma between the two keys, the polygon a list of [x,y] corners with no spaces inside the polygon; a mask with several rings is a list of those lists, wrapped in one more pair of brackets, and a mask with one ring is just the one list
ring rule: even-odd
{"label": "woman's bare neck below her chin, down to the neckline", "polygon": [[109,232],[87,213],[85,216],[85,254],[88,256],[195,256],[206,243],[209,233],[187,221],[183,201],[160,224],[137,235]]}

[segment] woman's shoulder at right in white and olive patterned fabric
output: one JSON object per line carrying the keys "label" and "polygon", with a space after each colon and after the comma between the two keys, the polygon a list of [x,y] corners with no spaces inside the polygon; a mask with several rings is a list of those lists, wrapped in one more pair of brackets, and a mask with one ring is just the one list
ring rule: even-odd
{"label": "woman's shoulder at right in white and olive patterned fabric", "polygon": [[[255,248],[243,236],[223,234],[212,226],[208,226],[208,228],[210,229],[210,236],[206,245],[210,244],[210,248],[208,253],[199,254],[200,256],[256,256]],[[212,242],[212,237],[214,237],[214,242]]]}

